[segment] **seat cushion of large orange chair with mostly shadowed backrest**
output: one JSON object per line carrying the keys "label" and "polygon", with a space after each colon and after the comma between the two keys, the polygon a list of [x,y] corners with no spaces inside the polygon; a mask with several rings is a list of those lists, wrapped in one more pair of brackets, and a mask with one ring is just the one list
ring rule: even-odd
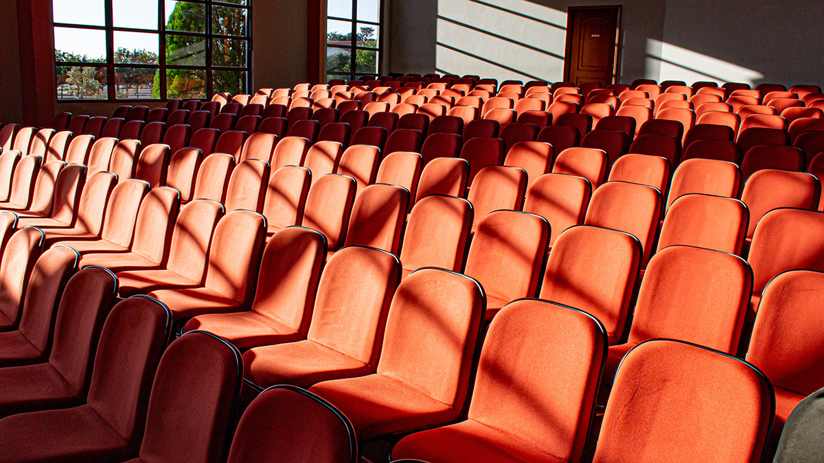
{"label": "seat cushion of large orange chair with mostly shadowed backrest", "polygon": [[304,338],[279,321],[253,311],[196,316],[183,327],[184,333],[191,330],[217,334],[240,349],[293,343]]}

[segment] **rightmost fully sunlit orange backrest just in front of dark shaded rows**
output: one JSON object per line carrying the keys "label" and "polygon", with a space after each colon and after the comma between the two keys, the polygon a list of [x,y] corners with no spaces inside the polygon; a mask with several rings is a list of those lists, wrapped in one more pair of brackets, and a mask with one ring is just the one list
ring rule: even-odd
{"label": "rightmost fully sunlit orange backrest just in front of dark shaded rows", "polygon": [[805,172],[762,169],[750,175],[741,193],[741,200],[750,208],[747,238],[765,213],[776,208],[816,210],[821,197],[821,182]]}

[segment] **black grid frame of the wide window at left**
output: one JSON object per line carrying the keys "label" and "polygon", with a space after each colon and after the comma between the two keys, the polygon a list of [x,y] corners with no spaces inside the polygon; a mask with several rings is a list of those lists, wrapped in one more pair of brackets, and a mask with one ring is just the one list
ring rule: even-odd
{"label": "black grid frame of the wide window at left", "polygon": [[[64,22],[55,22],[54,16],[50,19],[52,21],[52,30],[57,27],[80,30],[103,30],[105,31],[105,61],[100,63],[93,62],[73,62],[73,61],[58,61],[56,56],[54,60],[54,73],[57,75],[58,67],[81,67],[81,68],[105,68],[106,69],[106,98],[101,99],[84,99],[84,98],[59,98],[59,85],[55,81],[54,95],[58,103],[139,103],[147,101],[169,101],[177,98],[176,96],[168,96],[168,84],[166,71],[168,70],[194,70],[205,72],[205,90],[202,98],[185,98],[187,100],[209,100],[214,95],[213,71],[232,71],[232,72],[246,72],[246,78],[242,80],[243,91],[248,93],[250,87],[250,72],[252,63],[252,16],[253,16],[253,0],[244,0],[246,4],[232,3],[221,0],[178,0],[181,2],[195,3],[204,6],[204,32],[188,32],[183,30],[166,30],[166,1],[157,0],[157,29],[139,29],[133,27],[121,27],[114,25],[114,4],[113,0],[103,0],[103,7],[105,10],[105,26],[92,26],[85,24],[73,24]],[[233,7],[246,10],[246,35],[217,35],[212,30],[212,8],[213,7]],[[157,64],[147,63],[115,63],[115,32],[138,32],[142,34],[156,34],[158,40]],[[187,37],[199,37],[204,39],[204,64],[203,65],[177,65],[166,63],[166,36],[167,35],[182,35]],[[213,42],[219,39],[230,40],[245,40],[246,41],[246,64],[242,67],[231,66],[216,66],[213,65]],[[52,54],[57,50],[54,43],[54,34],[52,40]],[[116,68],[136,68],[136,69],[152,69],[157,70],[160,75],[158,83],[160,84],[159,98],[117,98],[117,77]]]}

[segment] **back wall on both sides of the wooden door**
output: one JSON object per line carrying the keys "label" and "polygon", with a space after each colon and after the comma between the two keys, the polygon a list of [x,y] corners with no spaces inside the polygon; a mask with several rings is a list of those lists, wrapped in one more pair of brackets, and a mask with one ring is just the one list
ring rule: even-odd
{"label": "back wall on both sides of the wooden door", "polygon": [[388,71],[558,81],[567,7],[616,4],[620,82],[824,84],[820,0],[396,0]]}

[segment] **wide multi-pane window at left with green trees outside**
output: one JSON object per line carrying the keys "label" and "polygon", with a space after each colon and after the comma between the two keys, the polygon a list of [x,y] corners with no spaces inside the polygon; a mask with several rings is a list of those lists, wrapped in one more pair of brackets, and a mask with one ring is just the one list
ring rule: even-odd
{"label": "wide multi-pane window at left with green trees outside", "polygon": [[251,0],[52,4],[59,101],[246,93]]}

